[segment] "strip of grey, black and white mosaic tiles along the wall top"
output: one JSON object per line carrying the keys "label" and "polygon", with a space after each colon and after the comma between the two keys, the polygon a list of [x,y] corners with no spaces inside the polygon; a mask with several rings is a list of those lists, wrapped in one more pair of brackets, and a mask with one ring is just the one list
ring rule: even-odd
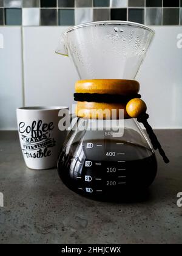
{"label": "strip of grey, black and white mosaic tiles along the wall top", "polygon": [[32,8],[37,10],[34,13],[39,26],[74,26],[83,19],[133,21],[149,26],[182,23],[182,0],[116,0],[115,3],[113,0],[0,0],[0,26],[26,24],[25,15],[29,11],[24,9]]}

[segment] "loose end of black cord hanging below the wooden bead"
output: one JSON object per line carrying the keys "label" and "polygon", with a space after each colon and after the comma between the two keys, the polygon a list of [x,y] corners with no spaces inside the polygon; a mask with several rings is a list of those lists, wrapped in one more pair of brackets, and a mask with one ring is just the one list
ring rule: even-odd
{"label": "loose end of black cord hanging below the wooden bead", "polygon": [[160,142],[157,139],[157,136],[155,135],[155,133],[153,132],[152,127],[150,126],[150,124],[148,123],[147,119],[149,118],[149,115],[147,113],[143,113],[141,114],[138,118],[137,121],[139,123],[143,123],[144,127],[146,128],[146,131],[149,135],[150,141],[152,143],[153,149],[157,150],[160,152],[160,155],[163,157],[163,160],[165,163],[169,163],[169,159],[166,157],[166,154],[164,152],[164,150],[161,147]]}

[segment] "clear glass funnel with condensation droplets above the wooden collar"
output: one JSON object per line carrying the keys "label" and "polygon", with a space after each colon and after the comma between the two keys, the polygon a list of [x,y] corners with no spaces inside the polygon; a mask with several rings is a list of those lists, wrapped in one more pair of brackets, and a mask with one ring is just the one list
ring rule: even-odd
{"label": "clear glass funnel with condensation droplets above the wooden collar", "polygon": [[87,23],[64,32],[56,52],[72,58],[81,79],[135,79],[154,34],[138,23]]}

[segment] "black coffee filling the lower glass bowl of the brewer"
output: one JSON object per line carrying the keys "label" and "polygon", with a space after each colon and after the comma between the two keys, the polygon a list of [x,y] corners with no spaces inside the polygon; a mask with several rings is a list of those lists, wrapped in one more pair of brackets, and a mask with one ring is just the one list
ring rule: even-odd
{"label": "black coffee filling the lower glass bowl of the brewer", "polygon": [[118,200],[121,192],[127,196],[151,185],[157,161],[150,148],[129,142],[129,137],[137,138],[136,132],[127,129],[120,139],[105,137],[104,132],[97,132],[101,139],[92,139],[91,133],[78,133],[59,157],[59,176],[70,190],[95,199]]}

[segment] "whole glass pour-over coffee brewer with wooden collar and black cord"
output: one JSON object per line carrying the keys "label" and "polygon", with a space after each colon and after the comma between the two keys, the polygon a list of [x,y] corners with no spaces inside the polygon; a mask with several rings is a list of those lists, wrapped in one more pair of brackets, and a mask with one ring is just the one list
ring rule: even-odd
{"label": "whole glass pour-over coffee brewer with wooden collar and black cord", "polygon": [[101,21],[62,35],[56,52],[72,58],[82,80],[75,86],[77,127],[67,137],[58,172],[76,193],[115,200],[151,185],[157,160],[139,122],[168,162],[134,80],[154,34],[141,24]]}

